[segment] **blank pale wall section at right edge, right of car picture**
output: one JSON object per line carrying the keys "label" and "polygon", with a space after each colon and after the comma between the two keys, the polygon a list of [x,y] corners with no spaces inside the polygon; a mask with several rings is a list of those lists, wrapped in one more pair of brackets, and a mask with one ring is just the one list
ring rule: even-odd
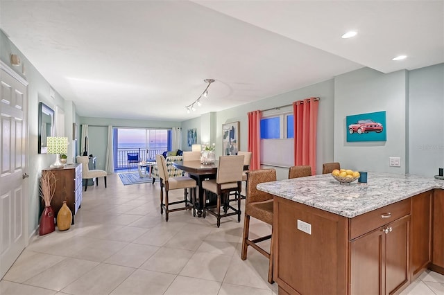
{"label": "blank pale wall section at right edge, right of car picture", "polygon": [[444,167],[444,64],[409,72],[409,173]]}

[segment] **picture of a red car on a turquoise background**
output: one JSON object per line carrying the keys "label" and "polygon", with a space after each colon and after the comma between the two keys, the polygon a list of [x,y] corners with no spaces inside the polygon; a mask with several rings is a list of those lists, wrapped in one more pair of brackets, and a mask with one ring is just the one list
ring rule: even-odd
{"label": "picture of a red car on a turquoise background", "polygon": [[386,141],[386,112],[347,116],[347,141]]}

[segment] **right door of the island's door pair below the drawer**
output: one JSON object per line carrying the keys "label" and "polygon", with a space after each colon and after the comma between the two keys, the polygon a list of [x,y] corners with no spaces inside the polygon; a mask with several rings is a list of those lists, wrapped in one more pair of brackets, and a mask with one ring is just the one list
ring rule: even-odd
{"label": "right door of the island's door pair below the drawer", "polygon": [[386,234],[386,291],[393,294],[410,283],[409,275],[409,229],[410,215],[400,218],[385,227]]}

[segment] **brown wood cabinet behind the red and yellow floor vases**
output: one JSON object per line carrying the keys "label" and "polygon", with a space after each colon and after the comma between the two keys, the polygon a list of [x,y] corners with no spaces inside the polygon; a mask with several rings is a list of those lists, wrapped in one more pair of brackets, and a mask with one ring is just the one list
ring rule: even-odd
{"label": "brown wood cabinet behind the red and yellow floor vases", "polygon": [[66,201],[73,215],[72,222],[74,224],[74,215],[82,202],[82,165],[77,163],[61,169],[48,168],[45,170],[53,172],[57,179],[56,191],[51,201],[55,216],[62,207],[63,201]]}

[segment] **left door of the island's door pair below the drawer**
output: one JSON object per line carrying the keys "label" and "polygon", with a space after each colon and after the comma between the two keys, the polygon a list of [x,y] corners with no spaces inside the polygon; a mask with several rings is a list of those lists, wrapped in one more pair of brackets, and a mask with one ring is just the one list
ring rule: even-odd
{"label": "left door of the island's door pair below the drawer", "polygon": [[379,228],[350,242],[350,294],[383,294],[385,235]]}

